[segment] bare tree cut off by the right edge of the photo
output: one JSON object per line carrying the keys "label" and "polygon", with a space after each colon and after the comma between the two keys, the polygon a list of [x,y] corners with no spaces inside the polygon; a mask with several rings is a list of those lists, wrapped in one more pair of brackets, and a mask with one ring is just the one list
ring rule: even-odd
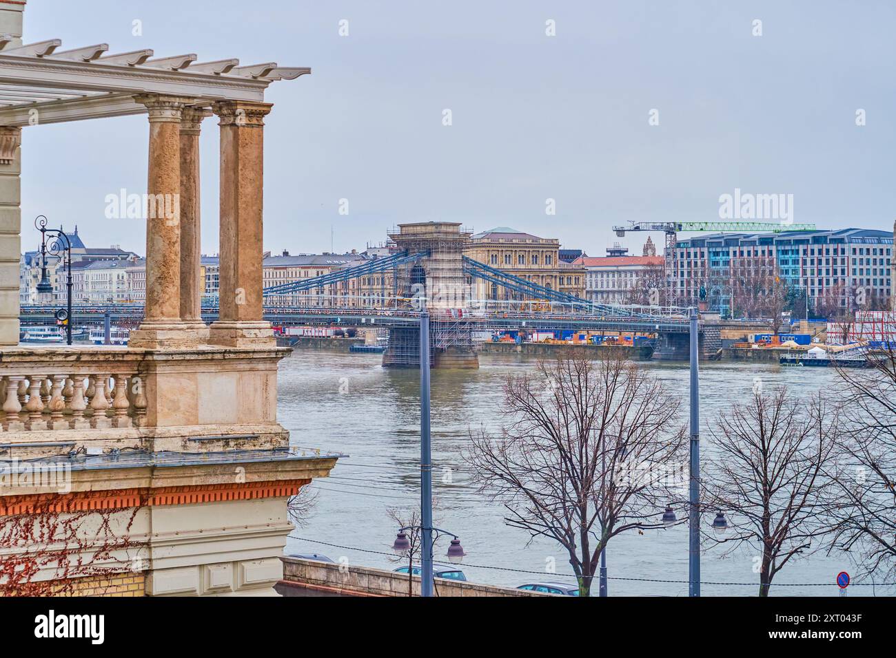
{"label": "bare tree cut off by the right edge of the photo", "polygon": [[840,369],[847,431],[836,472],[842,505],[831,545],[857,551],[868,575],[896,576],[896,351]]}

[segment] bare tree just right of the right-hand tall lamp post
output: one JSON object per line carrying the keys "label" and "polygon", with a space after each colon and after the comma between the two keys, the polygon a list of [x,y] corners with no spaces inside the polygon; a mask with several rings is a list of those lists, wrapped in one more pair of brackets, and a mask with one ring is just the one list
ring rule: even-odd
{"label": "bare tree just right of the right-hand tall lamp post", "polygon": [[754,389],[711,425],[704,500],[707,510],[729,515],[731,528],[715,541],[756,551],[760,596],[793,557],[821,548],[816,538],[831,529],[827,473],[837,432],[822,397],[803,409],[783,387]]}

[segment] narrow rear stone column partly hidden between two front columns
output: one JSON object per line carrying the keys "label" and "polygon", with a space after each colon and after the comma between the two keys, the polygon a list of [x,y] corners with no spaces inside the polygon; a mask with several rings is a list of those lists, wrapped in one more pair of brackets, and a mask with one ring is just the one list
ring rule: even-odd
{"label": "narrow rear stone column partly hidden between two front columns", "polygon": [[180,120],[180,319],[208,338],[202,322],[202,230],[199,197],[199,133],[211,111],[185,107]]}

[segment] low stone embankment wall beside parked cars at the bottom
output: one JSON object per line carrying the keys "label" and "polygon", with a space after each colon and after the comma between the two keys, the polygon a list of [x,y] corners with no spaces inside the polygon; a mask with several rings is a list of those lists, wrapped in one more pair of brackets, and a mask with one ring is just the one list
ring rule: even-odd
{"label": "low stone embankment wall beside parked cars at the bottom", "polygon": [[[343,566],[283,557],[280,594],[294,596],[407,596],[408,575],[372,567]],[[412,577],[413,592],[420,595],[420,578]],[[304,590],[304,591],[303,591]],[[435,579],[439,596],[557,596],[509,587]]]}

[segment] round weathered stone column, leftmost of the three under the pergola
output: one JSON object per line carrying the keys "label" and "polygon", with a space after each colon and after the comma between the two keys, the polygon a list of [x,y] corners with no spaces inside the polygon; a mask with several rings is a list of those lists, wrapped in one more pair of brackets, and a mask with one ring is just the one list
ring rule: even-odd
{"label": "round weathered stone column, leftmost of the three under the pergola", "polygon": [[144,94],[149,110],[150,161],[146,209],[146,303],[129,346],[192,347],[195,330],[180,318],[180,120],[191,98]]}

